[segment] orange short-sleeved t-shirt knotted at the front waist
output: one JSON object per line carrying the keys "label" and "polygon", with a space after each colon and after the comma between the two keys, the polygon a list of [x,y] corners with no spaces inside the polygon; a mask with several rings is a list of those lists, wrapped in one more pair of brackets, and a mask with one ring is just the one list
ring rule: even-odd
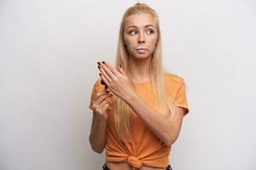
{"label": "orange short-sleeved t-shirt knotted at the front waist", "polygon": [[[174,105],[184,109],[184,116],[189,113],[189,107],[185,94],[185,83],[182,77],[173,74],[166,74],[166,90]],[[149,106],[154,105],[154,96],[151,82],[137,83],[137,95],[140,96]],[[97,92],[102,92],[104,86],[99,80],[94,84],[91,93],[90,109],[92,110],[92,99]],[[134,141],[123,143],[119,140],[115,131],[113,101],[108,106],[108,121],[106,127],[106,161],[126,162],[132,169],[139,167],[165,168],[169,164],[169,154],[172,146],[167,146],[160,141],[136,115],[132,114],[134,120],[131,133]]]}

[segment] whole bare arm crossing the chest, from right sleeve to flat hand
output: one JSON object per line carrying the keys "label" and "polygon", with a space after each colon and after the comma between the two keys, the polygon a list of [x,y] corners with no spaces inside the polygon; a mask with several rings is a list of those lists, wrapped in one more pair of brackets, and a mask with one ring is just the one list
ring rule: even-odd
{"label": "whole bare arm crossing the chest, from right sleeve to flat hand", "polygon": [[102,73],[102,80],[109,90],[123,99],[156,137],[166,145],[171,145],[176,141],[183,122],[184,110],[182,108],[176,108],[177,116],[174,121],[171,121],[171,117],[166,119],[135,93],[123,69],[119,67],[119,71],[117,71],[105,62],[105,64],[100,65],[99,70]]}

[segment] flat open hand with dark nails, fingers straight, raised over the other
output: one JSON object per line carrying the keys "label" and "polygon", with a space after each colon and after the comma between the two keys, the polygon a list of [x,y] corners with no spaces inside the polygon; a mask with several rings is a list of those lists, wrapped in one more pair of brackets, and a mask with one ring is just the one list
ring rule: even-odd
{"label": "flat open hand with dark nails, fingers straight, raised over the other", "polygon": [[125,97],[136,94],[121,66],[115,69],[109,63],[102,61],[101,63],[98,62],[98,68],[103,82],[120,99],[126,100]]}

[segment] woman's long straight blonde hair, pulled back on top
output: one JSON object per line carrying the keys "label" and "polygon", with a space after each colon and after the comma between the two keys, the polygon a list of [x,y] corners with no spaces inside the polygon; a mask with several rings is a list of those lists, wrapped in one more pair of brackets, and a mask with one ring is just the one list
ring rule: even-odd
{"label": "woman's long straight blonde hair, pulled back on top", "polygon": [[[123,19],[120,23],[119,28],[119,42],[116,54],[115,66],[118,67],[122,65],[126,76],[130,79],[133,88],[135,87],[135,82],[132,81],[133,75],[131,72],[131,67],[129,63],[129,54],[127,48],[125,48],[124,41],[124,28],[125,20],[131,14],[151,14],[154,17],[157,31],[158,39],[152,54],[151,67],[150,67],[150,78],[153,87],[154,95],[157,96],[157,102],[155,104],[155,110],[159,111],[162,116],[168,117],[172,116],[172,119],[176,116],[176,111],[172,101],[166,94],[166,84],[165,84],[165,72],[162,65],[162,49],[161,49],[161,36],[160,36],[160,25],[158,15],[155,13],[153,8],[148,7],[145,3],[136,3],[125,11]],[[119,99],[117,96],[113,95],[113,109],[114,109],[114,121],[116,126],[116,132],[121,141],[129,141],[132,139],[131,136],[131,125],[132,116],[131,108],[125,103],[125,101]]]}

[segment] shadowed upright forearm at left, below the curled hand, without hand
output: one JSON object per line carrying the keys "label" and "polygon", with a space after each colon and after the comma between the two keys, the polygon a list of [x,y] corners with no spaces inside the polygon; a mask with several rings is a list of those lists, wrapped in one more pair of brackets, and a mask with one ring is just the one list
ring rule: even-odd
{"label": "shadowed upright forearm at left, below the curled hand, without hand", "polygon": [[106,144],[106,125],[107,120],[96,116],[96,121],[90,132],[90,145],[92,150],[102,153]]}

